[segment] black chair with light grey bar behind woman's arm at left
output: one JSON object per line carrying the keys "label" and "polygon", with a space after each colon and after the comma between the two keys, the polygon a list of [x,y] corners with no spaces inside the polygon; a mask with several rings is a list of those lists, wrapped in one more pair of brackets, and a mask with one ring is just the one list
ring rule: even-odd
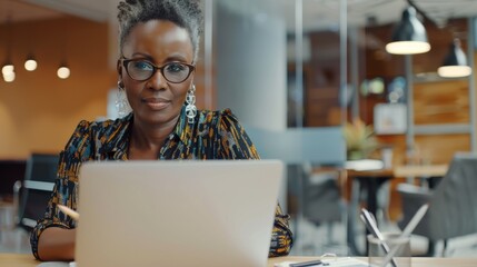
{"label": "black chair with light grey bar behind woman's arm at left", "polygon": [[27,160],[23,184],[17,182],[17,224],[28,231],[44,215],[57,178],[58,161],[58,155],[31,155]]}

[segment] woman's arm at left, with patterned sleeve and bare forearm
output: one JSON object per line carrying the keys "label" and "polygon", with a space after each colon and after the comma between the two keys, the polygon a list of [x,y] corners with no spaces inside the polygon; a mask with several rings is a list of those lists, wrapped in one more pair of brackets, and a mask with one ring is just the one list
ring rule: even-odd
{"label": "woman's arm at left, with patterned sleeve and bare forearm", "polygon": [[60,154],[58,178],[44,217],[30,235],[33,256],[40,260],[70,260],[74,253],[76,221],[58,209],[58,205],[77,209],[78,172],[91,151],[89,122],[81,121]]}

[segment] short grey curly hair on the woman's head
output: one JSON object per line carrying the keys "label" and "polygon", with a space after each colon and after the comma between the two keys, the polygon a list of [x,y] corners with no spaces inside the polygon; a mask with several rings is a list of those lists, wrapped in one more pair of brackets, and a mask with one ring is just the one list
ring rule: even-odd
{"label": "short grey curly hair on the woman's head", "polygon": [[189,32],[193,61],[199,52],[203,14],[199,0],[126,0],[118,4],[119,50],[131,29],[149,20],[168,20]]}

